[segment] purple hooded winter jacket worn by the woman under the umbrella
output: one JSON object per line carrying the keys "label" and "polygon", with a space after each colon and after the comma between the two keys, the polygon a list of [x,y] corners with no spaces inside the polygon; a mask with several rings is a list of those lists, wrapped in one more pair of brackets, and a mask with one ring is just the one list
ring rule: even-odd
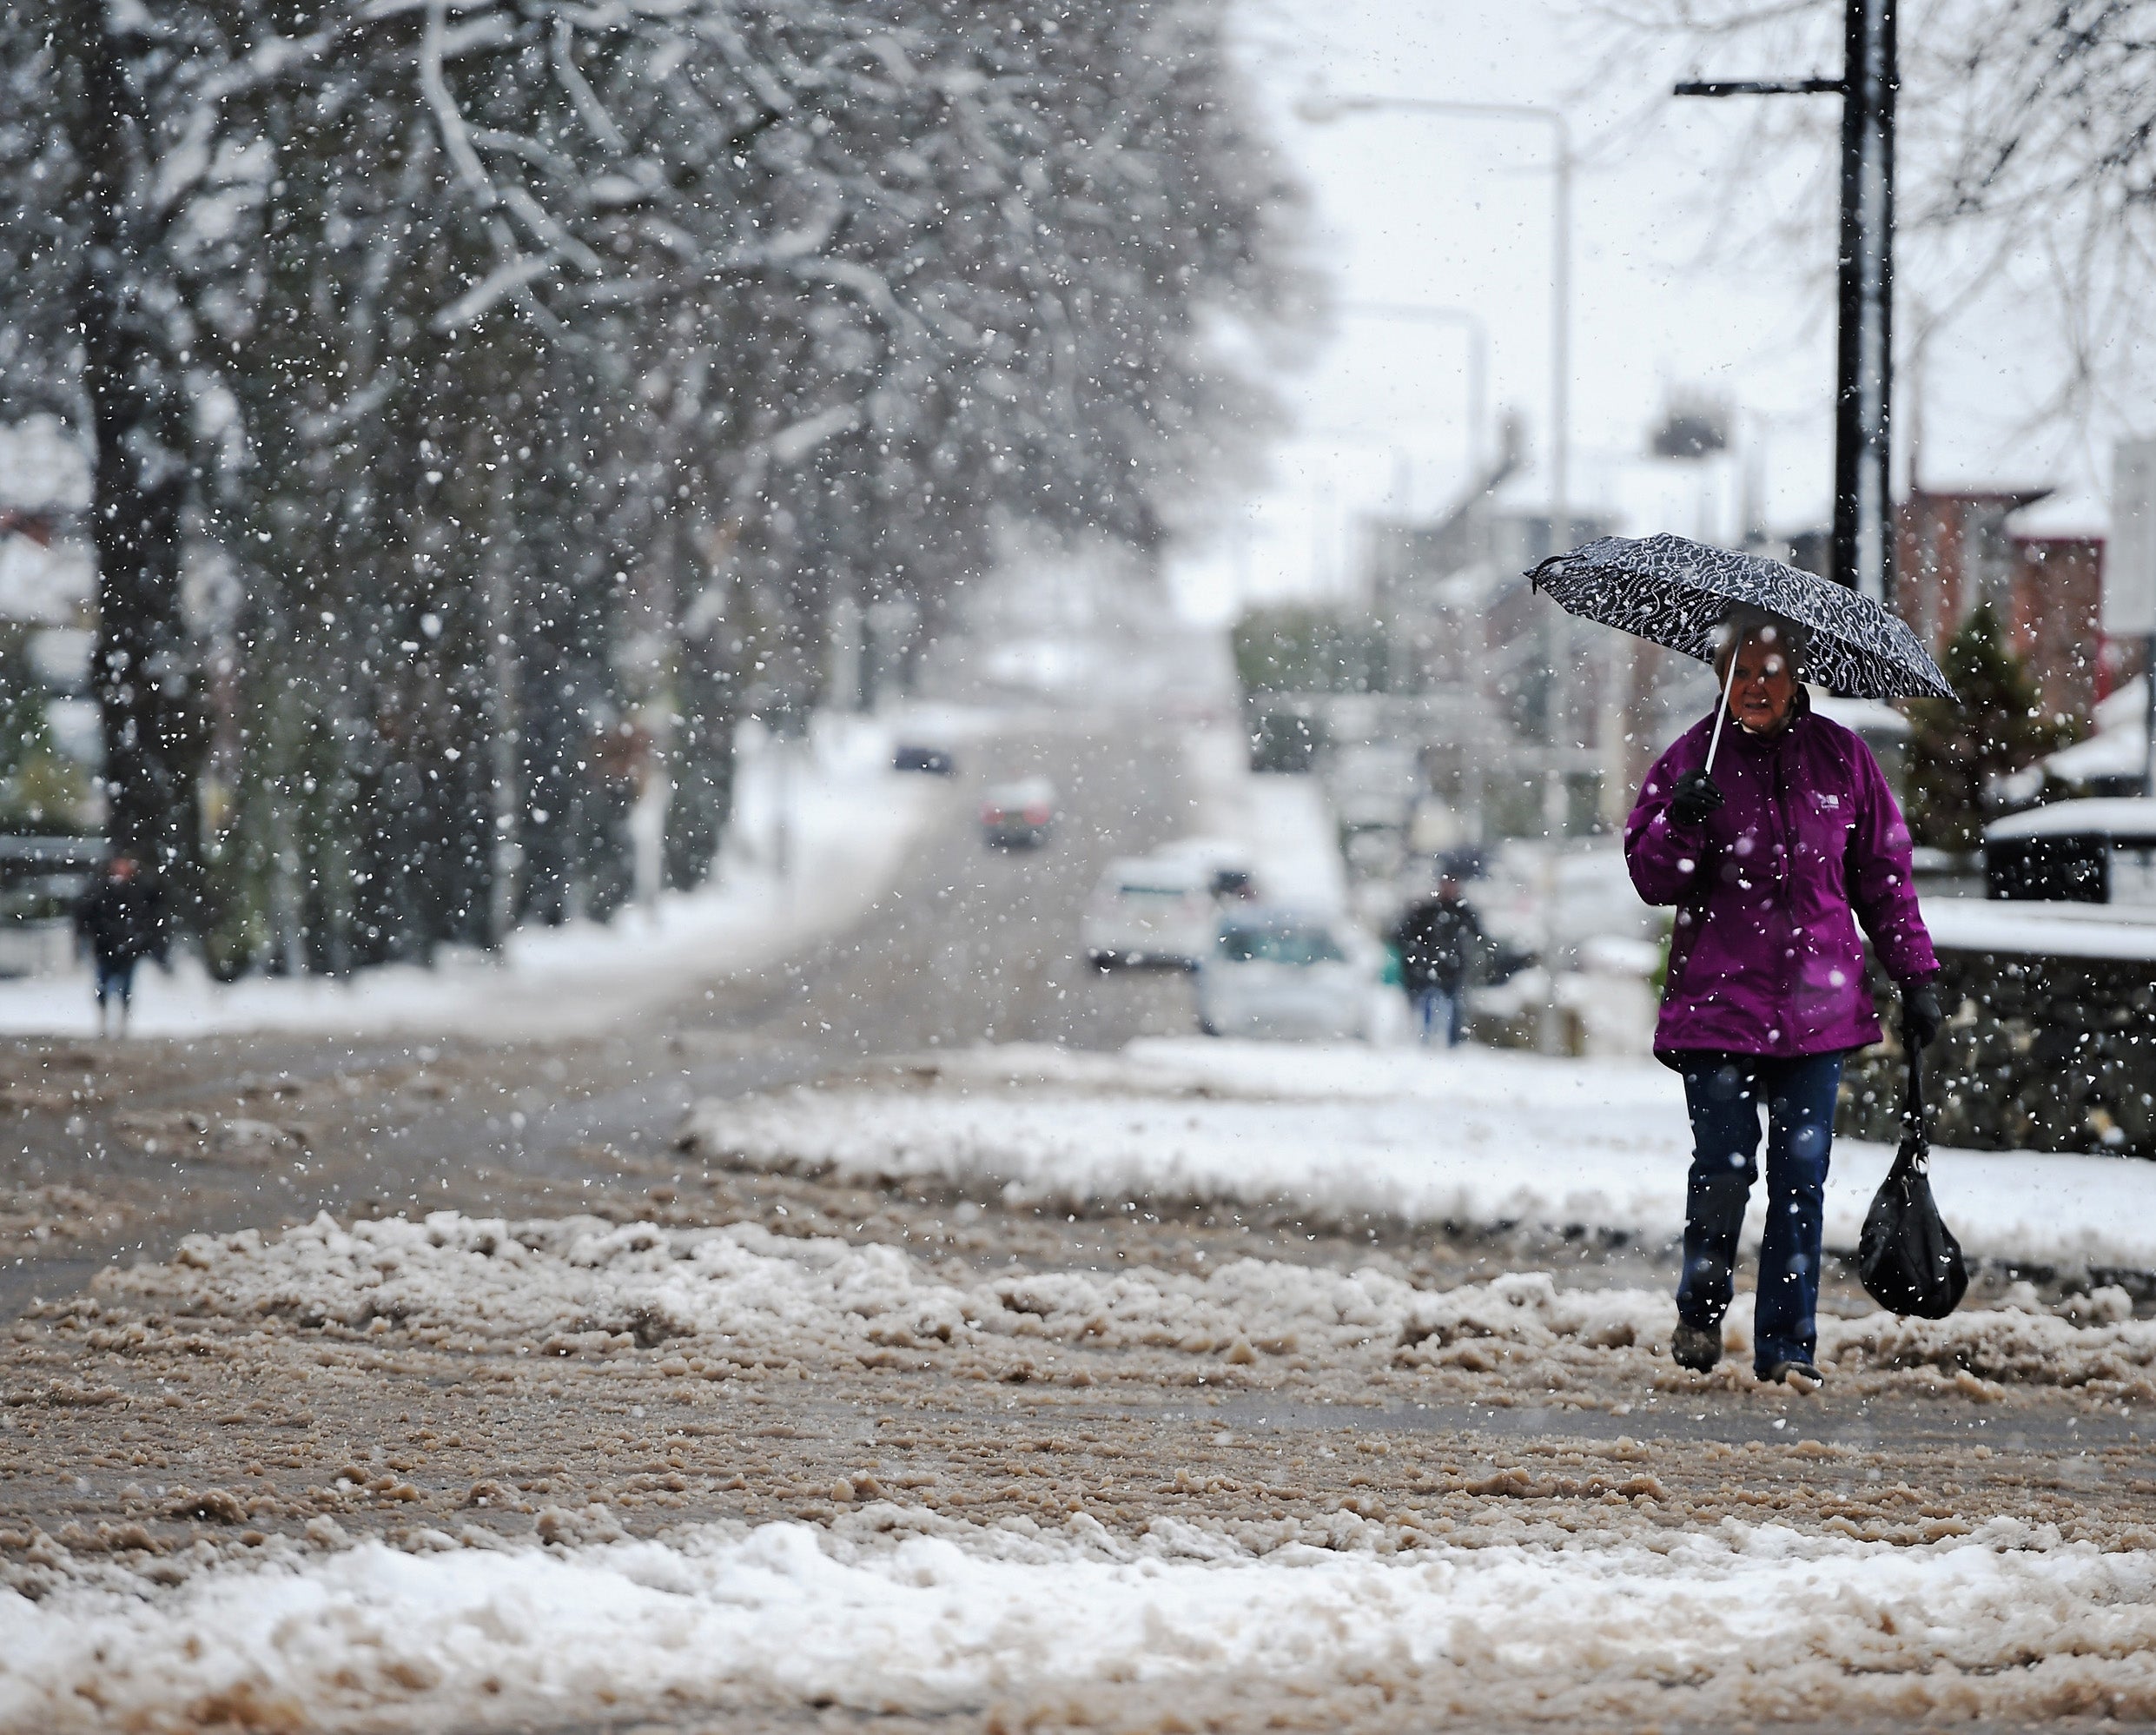
{"label": "purple hooded winter jacket worn by the woman under the umbrella", "polygon": [[1828,1054],[1880,1039],[1856,922],[1897,983],[1938,970],[1908,871],[1908,825],[1858,735],[1798,690],[1779,735],[1731,720],[1714,761],[1723,806],[1671,823],[1677,778],[1708,761],[1714,718],[1647,772],[1623,828],[1647,903],[1675,903],[1656,1054]]}

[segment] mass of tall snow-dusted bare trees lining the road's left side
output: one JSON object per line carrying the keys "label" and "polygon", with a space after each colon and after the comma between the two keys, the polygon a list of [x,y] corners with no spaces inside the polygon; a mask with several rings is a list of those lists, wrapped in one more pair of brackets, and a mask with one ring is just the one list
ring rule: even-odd
{"label": "mass of tall snow-dusted bare trees lining the road's left side", "polygon": [[0,366],[88,405],[114,825],[175,864],[181,528],[244,575],[222,968],[604,914],[645,735],[694,879],[837,612],[1013,517],[1151,545],[1263,422],[1212,332],[1287,317],[1294,194],[1222,0],[50,2]]}

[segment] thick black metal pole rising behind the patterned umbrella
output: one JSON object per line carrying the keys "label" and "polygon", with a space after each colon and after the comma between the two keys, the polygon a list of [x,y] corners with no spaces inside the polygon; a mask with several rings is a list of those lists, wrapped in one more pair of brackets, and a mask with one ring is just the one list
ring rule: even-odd
{"label": "thick black metal pole rising behind the patterned umbrella", "polygon": [[1833,571],[1893,606],[1895,0],[1848,0],[1843,50]]}

